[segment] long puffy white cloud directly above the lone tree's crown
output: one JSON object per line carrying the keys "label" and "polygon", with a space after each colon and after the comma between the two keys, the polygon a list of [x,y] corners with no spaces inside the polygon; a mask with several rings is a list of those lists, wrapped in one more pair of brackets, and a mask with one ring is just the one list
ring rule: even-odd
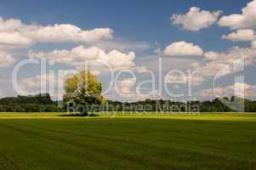
{"label": "long puffy white cloud directly above the lone tree's crown", "polygon": [[30,51],[28,57],[36,59],[53,59],[56,63],[73,65],[78,68],[84,65],[83,61],[88,61],[89,66],[97,66],[104,62],[115,70],[132,68],[135,66],[134,52],[129,52],[126,54],[114,49],[107,53],[101,48],[84,48],[82,45],[72,48],[71,50],[63,49],[50,52]]}

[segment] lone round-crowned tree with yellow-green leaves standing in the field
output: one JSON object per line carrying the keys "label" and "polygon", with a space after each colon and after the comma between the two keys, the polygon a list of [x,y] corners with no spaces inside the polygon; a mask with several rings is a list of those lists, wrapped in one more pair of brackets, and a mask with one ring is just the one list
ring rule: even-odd
{"label": "lone round-crowned tree with yellow-green leaves standing in the field", "polygon": [[81,71],[65,81],[64,102],[67,110],[82,113],[87,116],[88,111],[95,105],[102,105],[104,98],[101,95],[102,86],[89,71]]}

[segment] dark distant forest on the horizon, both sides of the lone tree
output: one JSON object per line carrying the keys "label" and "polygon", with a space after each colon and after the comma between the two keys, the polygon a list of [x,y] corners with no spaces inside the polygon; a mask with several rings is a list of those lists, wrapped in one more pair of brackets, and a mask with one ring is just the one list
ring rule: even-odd
{"label": "dark distant forest on the horizon, both sides of the lone tree", "polygon": [[[61,102],[60,102],[61,103]],[[225,105],[229,104],[229,107]],[[233,112],[233,105],[244,105],[244,111],[256,112],[256,101],[236,97],[213,99],[211,101],[178,102],[151,100],[119,102],[107,100],[105,105],[93,105],[89,111],[162,111],[162,112]],[[235,107],[234,107],[235,108]],[[1,112],[65,112],[65,106],[58,105],[49,94],[7,97],[0,99]]]}

